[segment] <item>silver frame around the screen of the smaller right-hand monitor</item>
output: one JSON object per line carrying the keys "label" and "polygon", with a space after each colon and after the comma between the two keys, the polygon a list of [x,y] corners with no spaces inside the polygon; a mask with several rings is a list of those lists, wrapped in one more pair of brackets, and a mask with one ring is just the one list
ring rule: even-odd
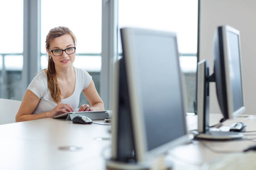
{"label": "silver frame around the screen of the smaller right-hand monitor", "polygon": [[[226,81],[226,95],[227,95],[227,109],[228,109],[228,118],[232,119],[239,114],[243,113],[245,111],[244,107],[244,88],[243,88],[243,76],[242,76],[242,65],[241,65],[241,40],[240,40],[240,31],[236,30],[235,28],[225,25],[221,26],[222,31],[222,41],[223,41],[223,52],[224,52],[224,70],[225,70],[225,81]],[[238,42],[239,42],[239,65],[240,65],[240,75],[241,75],[241,92],[242,92],[242,102],[243,106],[239,108],[238,110],[233,110],[233,94],[232,94],[232,85],[230,82],[230,71],[229,71],[229,64],[230,63],[230,45],[228,41],[228,32],[232,32],[236,35],[238,35]]]}

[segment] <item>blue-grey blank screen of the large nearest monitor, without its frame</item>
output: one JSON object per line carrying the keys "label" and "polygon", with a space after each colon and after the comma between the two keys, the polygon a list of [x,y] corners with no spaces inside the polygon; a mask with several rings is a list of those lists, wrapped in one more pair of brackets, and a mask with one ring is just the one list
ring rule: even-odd
{"label": "blue-grey blank screen of the large nearest monitor, without its frame", "polygon": [[176,37],[140,33],[132,38],[133,69],[137,70],[147,149],[151,150],[186,134]]}

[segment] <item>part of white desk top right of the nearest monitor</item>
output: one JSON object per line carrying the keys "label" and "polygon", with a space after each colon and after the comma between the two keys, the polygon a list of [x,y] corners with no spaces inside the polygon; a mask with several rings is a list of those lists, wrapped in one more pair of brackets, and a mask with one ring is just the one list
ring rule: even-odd
{"label": "part of white desk top right of the nearest monitor", "polygon": [[[249,116],[249,115],[240,115]],[[220,114],[210,114],[210,126],[215,125],[221,119]],[[256,130],[256,120],[246,119],[247,117],[236,117],[235,119],[228,119],[224,122],[224,126],[230,126],[235,122],[244,122],[247,124],[247,131]],[[197,116],[187,116],[188,130],[197,128]],[[256,133],[248,133],[256,134]],[[256,138],[256,136],[249,136],[249,138]],[[255,140],[256,141],[256,140]],[[214,150],[218,151],[242,151],[245,148],[255,145],[251,141],[203,141]],[[212,161],[220,156],[228,155],[228,153],[214,153],[207,149],[200,141],[195,141],[192,144],[186,144],[175,147],[170,151],[168,158],[174,161],[174,170],[199,170],[201,165],[207,161]],[[255,153],[256,154],[256,153]],[[256,167],[255,167],[256,169]]]}

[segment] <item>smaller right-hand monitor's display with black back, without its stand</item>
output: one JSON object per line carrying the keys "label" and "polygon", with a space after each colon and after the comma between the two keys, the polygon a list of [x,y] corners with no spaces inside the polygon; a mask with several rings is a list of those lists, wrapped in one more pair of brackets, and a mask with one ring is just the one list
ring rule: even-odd
{"label": "smaller right-hand monitor's display with black back, without its stand", "polygon": [[245,110],[240,32],[230,26],[218,27],[214,49],[214,74],[218,103],[224,118],[231,119]]}

